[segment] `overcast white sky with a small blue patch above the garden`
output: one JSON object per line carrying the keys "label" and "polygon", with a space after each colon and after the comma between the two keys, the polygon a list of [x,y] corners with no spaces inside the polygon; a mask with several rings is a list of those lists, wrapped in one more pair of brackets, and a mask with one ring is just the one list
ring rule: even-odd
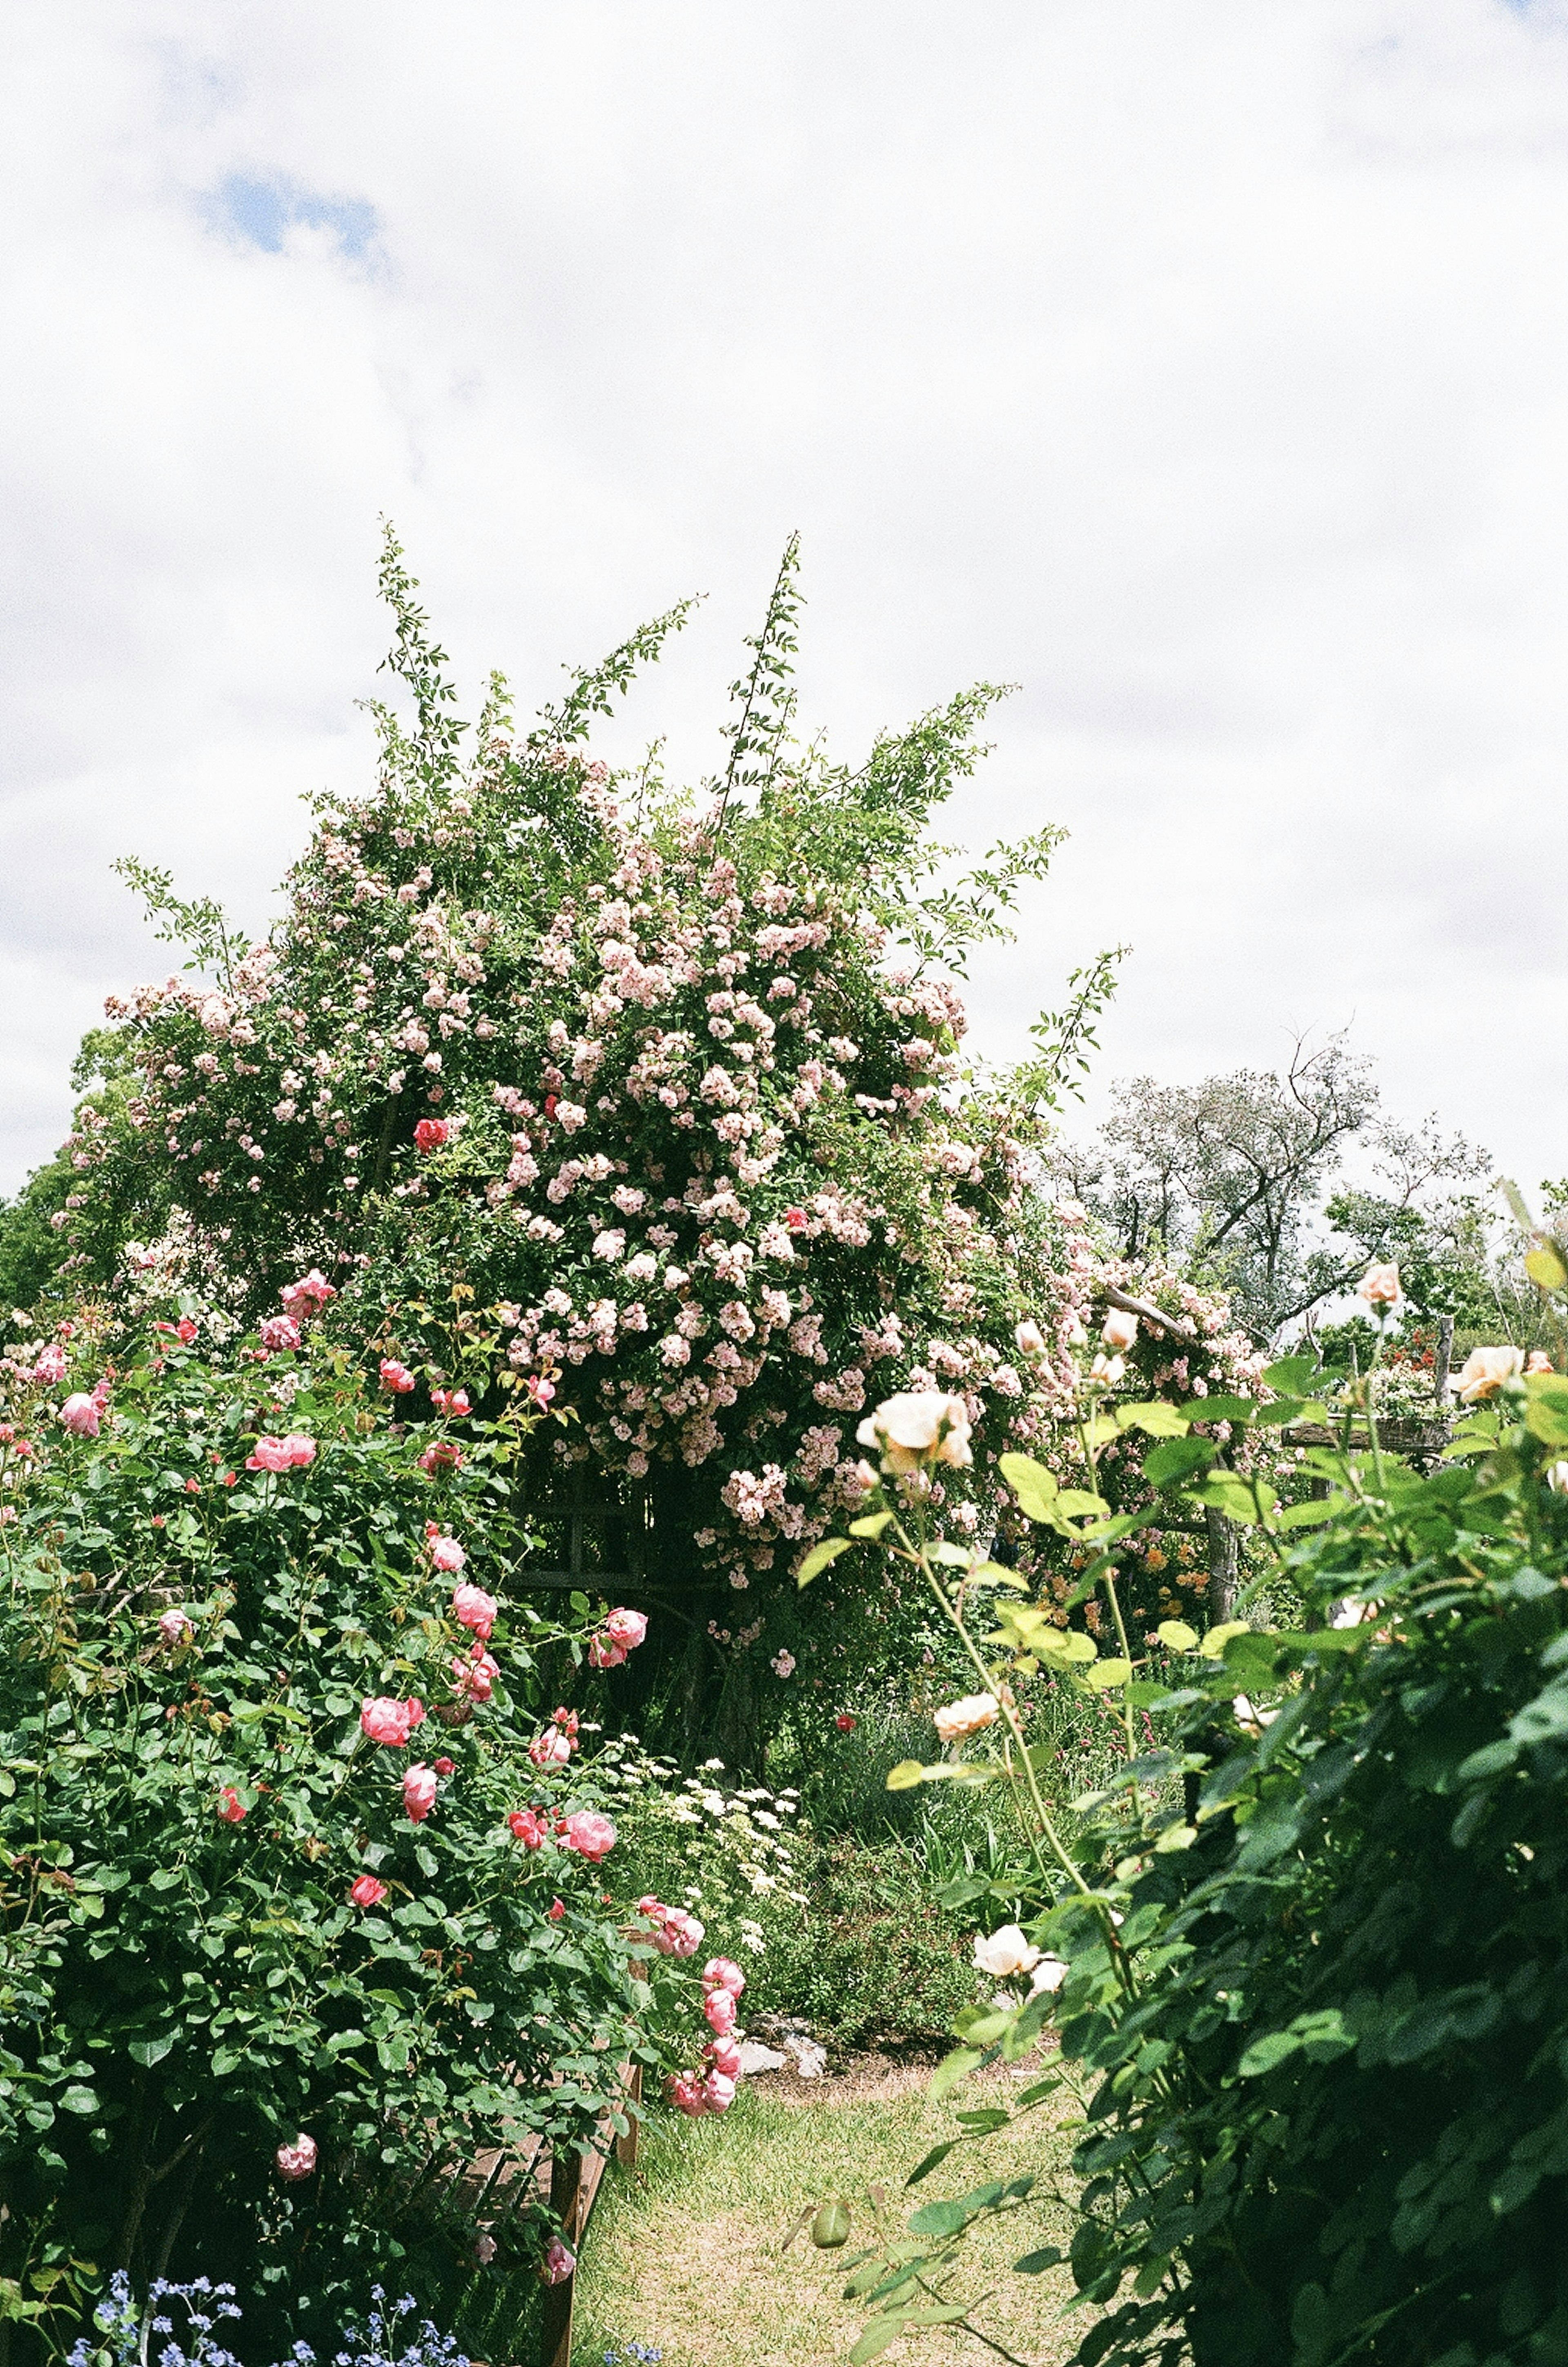
{"label": "overcast white sky with a small blue patch above the garden", "polygon": [[381,514],[525,701],[705,592],[605,746],[693,776],[799,528],[804,712],[1017,682],[955,831],[1071,831],[984,1049],[1126,940],[1102,1077],[1350,1025],[1568,1169],[1568,7],[59,0],[0,52],[0,1188],[168,968],[111,859],[263,925],[367,779]]}

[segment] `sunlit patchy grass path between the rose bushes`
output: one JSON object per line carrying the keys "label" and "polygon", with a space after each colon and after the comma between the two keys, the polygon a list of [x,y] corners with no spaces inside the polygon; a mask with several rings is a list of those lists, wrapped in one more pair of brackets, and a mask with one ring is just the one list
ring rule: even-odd
{"label": "sunlit patchy grass path between the rose bushes", "polygon": [[[804,2204],[847,2194],[854,2253],[868,2230],[901,2230],[922,2192],[1067,2171],[1069,2140],[1031,2114],[1026,2137],[1003,2130],[906,2194],[915,2161],[955,2133],[951,2109],[929,2102],[927,2078],[925,2069],[887,2064],[825,2083],[785,2085],[780,2073],[743,2083],[724,2118],[650,2123],[636,2171],[613,2171],[601,2192],[577,2287],[572,2367],[603,2367],[605,2350],[631,2341],[657,2348],[662,2367],[842,2367],[866,2313],[842,2301],[844,2253],[816,2251],[804,2234],[780,2251]],[[1007,2078],[996,2085],[1005,2090]],[[970,2090],[965,2100],[981,2102]],[[887,2208],[873,2216],[866,2189],[877,2180]],[[1031,2367],[1060,2367],[1083,2317],[1062,2317],[1071,2296],[1064,2270],[1010,2277],[1005,2268],[1069,2232],[1067,2211],[1045,2201],[972,2244],[963,2291],[993,2289],[977,2324]],[[889,2367],[979,2367],[989,2358],[996,2353],[939,2331],[906,2336],[887,2353]]]}

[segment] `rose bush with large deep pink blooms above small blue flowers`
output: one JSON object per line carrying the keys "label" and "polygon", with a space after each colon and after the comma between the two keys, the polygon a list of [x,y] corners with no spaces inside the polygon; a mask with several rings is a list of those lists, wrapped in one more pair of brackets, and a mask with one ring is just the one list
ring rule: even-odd
{"label": "rose bush with large deep pink blooms above small blue flowers", "polygon": [[73,2258],[232,2275],[267,2339],[378,2272],[430,2296],[480,2242],[454,2173],[584,2140],[641,2047],[570,1707],[641,1619],[516,1593],[539,1415],[402,1420],[326,1290],[227,1340],[192,1299],[83,1309],[0,1368],[12,2315]]}

